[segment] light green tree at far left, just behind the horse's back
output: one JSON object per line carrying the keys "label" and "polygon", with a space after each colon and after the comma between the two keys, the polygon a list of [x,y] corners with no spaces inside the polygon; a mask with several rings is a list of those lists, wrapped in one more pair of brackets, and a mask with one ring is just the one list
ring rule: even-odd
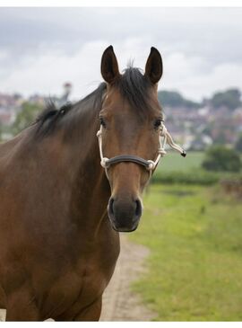
{"label": "light green tree at far left, just behind the horse's back", "polygon": [[17,134],[22,129],[27,128],[37,118],[42,107],[37,103],[24,102],[22,104],[22,111],[20,111],[13,122],[13,134]]}

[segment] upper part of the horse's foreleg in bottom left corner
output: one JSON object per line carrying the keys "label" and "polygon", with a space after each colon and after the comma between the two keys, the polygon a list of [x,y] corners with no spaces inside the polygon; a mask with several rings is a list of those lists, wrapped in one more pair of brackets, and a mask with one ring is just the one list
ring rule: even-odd
{"label": "upper part of the horse's foreleg in bottom left corner", "polygon": [[26,288],[6,296],[6,321],[39,321],[35,297]]}

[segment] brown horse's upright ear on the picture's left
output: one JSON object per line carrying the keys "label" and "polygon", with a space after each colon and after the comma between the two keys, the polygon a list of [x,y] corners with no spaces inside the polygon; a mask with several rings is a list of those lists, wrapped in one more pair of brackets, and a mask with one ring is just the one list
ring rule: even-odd
{"label": "brown horse's upright ear on the picture's left", "polygon": [[112,84],[120,76],[113,46],[109,46],[102,54],[101,75],[108,84]]}

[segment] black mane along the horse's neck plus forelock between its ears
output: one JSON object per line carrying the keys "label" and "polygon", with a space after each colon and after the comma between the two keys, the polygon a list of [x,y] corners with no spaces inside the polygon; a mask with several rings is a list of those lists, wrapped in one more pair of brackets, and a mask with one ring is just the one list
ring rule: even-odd
{"label": "black mane along the horse's neck plus forelock between its ears", "polygon": [[[124,74],[114,82],[114,86],[122,97],[130,103],[131,107],[137,111],[138,115],[143,116],[148,111],[150,103],[148,89],[151,87],[151,82],[142,74],[140,68],[128,66]],[[103,82],[81,101],[73,104],[67,102],[60,109],[57,109],[55,103],[50,100],[44,111],[40,113],[34,122],[34,124],[37,124],[37,134],[43,137],[51,133],[55,129],[57,121],[73,109],[84,111],[84,105],[88,105],[93,111],[99,111],[103,94],[106,91],[107,84]]]}

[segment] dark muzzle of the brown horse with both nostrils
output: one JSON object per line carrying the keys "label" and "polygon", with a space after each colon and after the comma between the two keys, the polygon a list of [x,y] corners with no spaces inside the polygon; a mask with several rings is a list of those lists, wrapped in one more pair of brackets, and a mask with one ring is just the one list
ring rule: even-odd
{"label": "dark muzzle of the brown horse with both nostrils", "polygon": [[108,202],[108,217],[118,232],[134,231],[139,225],[142,211],[140,199],[110,198]]}

